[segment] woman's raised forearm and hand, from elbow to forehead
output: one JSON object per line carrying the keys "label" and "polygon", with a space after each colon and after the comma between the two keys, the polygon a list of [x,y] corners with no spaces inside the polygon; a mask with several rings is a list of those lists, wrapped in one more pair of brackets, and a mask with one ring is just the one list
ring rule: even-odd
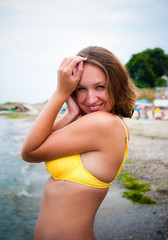
{"label": "woman's raised forearm and hand, from elbow to forehead", "polygon": [[[44,109],[33,124],[22,148],[22,158],[30,161],[33,151],[38,149],[52,133],[53,124],[63,103],[68,99],[76,86],[83,72],[83,61],[86,58],[79,56],[65,58],[58,69],[57,89]],[[73,75],[73,69],[78,64],[77,73]]]}

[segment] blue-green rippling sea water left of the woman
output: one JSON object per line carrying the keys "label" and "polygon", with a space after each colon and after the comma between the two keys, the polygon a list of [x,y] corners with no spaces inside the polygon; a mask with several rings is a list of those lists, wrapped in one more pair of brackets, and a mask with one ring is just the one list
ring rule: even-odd
{"label": "blue-green rippling sea water left of the woman", "polygon": [[0,240],[32,240],[49,174],[44,163],[22,160],[32,118],[0,116]]}

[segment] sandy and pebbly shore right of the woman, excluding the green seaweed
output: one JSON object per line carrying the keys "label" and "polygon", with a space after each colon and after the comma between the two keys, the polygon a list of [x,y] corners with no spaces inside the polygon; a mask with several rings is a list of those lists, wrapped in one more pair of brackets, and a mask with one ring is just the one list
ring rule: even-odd
{"label": "sandy and pebbly shore right of the woman, excluding the green seaweed", "polygon": [[131,139],[124,171],[141,183],[157,203],[142,205],[122,198],[115,180],[95,220],[97,240],[168,240],[168,121],[126,119]]}

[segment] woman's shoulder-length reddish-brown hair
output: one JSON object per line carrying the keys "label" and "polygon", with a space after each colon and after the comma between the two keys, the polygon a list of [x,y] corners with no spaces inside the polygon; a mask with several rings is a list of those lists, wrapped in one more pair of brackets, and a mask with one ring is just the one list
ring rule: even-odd
{"label": "woman's shoulder-length reddish-brown hair", "polygon": [[123,117],[132,117],[135,107],[135,86],[127,69],[109,50],[90,46],[81,50],[78,54],[87,57],[84,64],[90,63],[103,70],[107,79],[107,91],[112,106],[111,112]]}

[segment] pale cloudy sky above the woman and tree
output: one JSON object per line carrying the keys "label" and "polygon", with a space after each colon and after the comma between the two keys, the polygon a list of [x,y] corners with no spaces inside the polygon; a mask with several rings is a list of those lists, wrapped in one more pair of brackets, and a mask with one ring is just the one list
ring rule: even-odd
{"label": "pale cloudy sky above the woman and tree", "polygon": [[0,103],[48,100],[62,59],[90,45],[123,64],[168,54],[168,0],[0,0]]}

